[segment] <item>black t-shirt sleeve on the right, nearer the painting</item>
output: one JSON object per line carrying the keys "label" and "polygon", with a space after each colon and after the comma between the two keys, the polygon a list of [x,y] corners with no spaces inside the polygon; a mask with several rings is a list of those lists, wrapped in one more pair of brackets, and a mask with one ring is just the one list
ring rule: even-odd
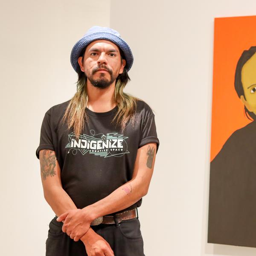
{"label": "black t-shirt sleeve on the right, nearer the painting", "polygon": [[151,114],[150,116],[148,116],[148,118],[143,123],[138,148],[144,146],[147,143],[157,143],[157,151],[158,151],[158,147],[160,143],[159,143],[159,139],[157,138],[157,129],[155,125],[154,114]]}

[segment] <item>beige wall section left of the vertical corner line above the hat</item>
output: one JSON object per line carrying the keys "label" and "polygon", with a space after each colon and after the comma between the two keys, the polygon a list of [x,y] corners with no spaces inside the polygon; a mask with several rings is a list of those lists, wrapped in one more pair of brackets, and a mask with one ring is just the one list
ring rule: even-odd
{"label": "beige wall section left of the vertical corner line above the hat", "polygon": [[41,124],[76,92],[71,49],[91,26],[110,25],[110,1],[1,1],[0,19],[0,255],[44,256],[55,214],[35,156]]}

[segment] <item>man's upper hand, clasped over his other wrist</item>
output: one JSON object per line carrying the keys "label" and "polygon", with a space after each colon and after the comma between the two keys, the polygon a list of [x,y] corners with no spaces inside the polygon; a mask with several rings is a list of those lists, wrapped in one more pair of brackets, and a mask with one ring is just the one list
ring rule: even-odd
{"label": "man's upper hand, clasped over his other wrist", "polygon": [[89,230],[90,224],[93,221],[84,209],[73,209],[64,212],[58,218],[57,221],[62,221],[62,231],[67,233],[74,241],[79,239]]}

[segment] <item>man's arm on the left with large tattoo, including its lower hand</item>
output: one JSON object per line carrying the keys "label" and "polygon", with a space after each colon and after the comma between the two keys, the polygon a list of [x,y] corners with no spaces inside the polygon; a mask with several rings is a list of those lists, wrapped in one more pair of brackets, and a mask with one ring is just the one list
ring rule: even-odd
{"label": "man's arm on the left with large tattoo, including its lower hand", "polygon": [[[59,216],[68,210],[77,209],[70,196],[62,188],[61,171],[55,152],[49,149],[42,149],[39,152],[39,159],[44,198],[55,214]],[[96,234],[91,227],[80,239],[86,247],[87,254],[93,251],[91,249],[93,244],[97,244],[97,246],[94,247],[112,252],[113,254],[113,250],[108,242]]]}

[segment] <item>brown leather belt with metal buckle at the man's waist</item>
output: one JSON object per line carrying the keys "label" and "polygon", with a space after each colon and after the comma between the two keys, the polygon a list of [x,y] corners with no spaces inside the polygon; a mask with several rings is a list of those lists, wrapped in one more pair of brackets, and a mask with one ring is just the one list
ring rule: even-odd
{"label": "brown leather belt with metal buckle at the man's waist", "polygon": [[94,219],[91,222],[91,226],[99,224],[119,224],[121,221],[130,220],[132,218],[137,218],[137,208],[132,210],[127,210],[124,212],[116,213],[115,215],[104,215]]}

